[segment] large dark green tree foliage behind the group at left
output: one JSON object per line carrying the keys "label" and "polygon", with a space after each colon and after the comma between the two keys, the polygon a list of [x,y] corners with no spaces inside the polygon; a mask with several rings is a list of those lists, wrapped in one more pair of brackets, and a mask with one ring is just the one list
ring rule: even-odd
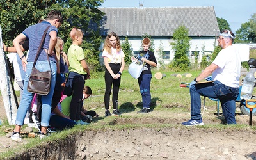
{"label": "large dark green tree foliage behind the group at left", "polygon": [[[64,19],[64,23],[58,28],[58,36],[63,38],[64,51],[72,43],[69,38],[70,30],[73,27],[84,31],[84,42],[81,47],[84,49],[86,61],[91,70],[101,70],[99,64],[99,47],[101,37],[99,28],[93,31],[90,24],[99,24],[104,12],[98,8],[103,0],[2,0],[0,2],[0,25],[2,28],[3,42],[12,45],[12,40],[24,29],[32,24],[36,24],[40,19],[46,19],[47,13],[51,10],[59,10]],[[98,25],[99,26],[99,25]]]}

